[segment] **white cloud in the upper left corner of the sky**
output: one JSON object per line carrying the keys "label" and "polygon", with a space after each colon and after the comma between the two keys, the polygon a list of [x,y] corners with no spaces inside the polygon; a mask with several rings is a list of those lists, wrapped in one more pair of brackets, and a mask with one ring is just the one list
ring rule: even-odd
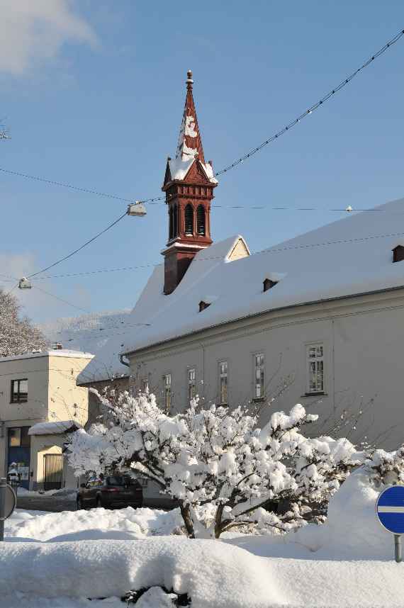
{"label": "white cloud in the upper left corner of the sky", "polygon": [[71,0],[0,0],[0,72],[21,76],[57,59],[64,43],[96,43]]}

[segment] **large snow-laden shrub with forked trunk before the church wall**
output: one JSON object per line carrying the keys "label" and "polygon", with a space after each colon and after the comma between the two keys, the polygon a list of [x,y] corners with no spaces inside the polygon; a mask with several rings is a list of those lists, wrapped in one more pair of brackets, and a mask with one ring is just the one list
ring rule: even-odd
{"label": "large snow-laden shrub with forked trunk before the church wall", "polygon": [[258,519],[279,531],[319,521],[363,459],[347,439],[304,437],[301,425],[318,417],[302,405],[274,412],[260,429],[244,407],[203,409],[193,400],[169,416],[148,392],[100,399],[106,423],[72,435],[69,462],[77,475],[130,467],[155,480],[178,500],[192,538],[218,538]]}

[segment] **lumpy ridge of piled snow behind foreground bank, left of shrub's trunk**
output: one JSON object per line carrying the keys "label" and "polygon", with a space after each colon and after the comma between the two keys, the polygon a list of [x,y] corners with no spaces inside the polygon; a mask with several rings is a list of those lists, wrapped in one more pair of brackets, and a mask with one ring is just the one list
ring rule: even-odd
{"label": "lumpy ridge of piled snow behind foreground bank, left of shrub's trunk", "polygon": [[6,522],[6,541],[79,541],[82,539],[142,539],[155,534],[172,534],[181,524],[179,510],[133,509],[116,511],[91,509],[34,515],[17,511]]}

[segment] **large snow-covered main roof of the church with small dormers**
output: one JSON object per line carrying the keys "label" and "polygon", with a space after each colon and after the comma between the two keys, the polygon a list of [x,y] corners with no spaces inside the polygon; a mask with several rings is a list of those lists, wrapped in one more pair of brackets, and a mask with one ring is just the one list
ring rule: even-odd
{"label": "large snow-covered main roof of the church with small dormers", "polygon": [[[157,266],[131,322],[149,323],[123,338],[128,353],[231,320],[303,303],[404,286],[404,264],[391,249],[404,235],[404,199],[349,215],[292,240],[229,261],[239,237],[201,250],[179,286],[163,294],[164,266]],[[262,281],[277,285],[263,293]],[[215,301],[199,313],[206,295]]]}

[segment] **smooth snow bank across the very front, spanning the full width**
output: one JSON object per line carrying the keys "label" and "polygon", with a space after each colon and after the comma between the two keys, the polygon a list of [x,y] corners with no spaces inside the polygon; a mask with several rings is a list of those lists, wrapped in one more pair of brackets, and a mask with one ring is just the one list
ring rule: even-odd
{"label": "smooth snow bank across the very front, spanning the full width", "polygon": [[404,603],[404,564],[259,558],[218,541],[179,536],[9,543],[0,568],[2,608],[9,608],[16,580],[19,590],[34,598],[116,597],[162,585],[188,593],[192,608],[403,608]]}

